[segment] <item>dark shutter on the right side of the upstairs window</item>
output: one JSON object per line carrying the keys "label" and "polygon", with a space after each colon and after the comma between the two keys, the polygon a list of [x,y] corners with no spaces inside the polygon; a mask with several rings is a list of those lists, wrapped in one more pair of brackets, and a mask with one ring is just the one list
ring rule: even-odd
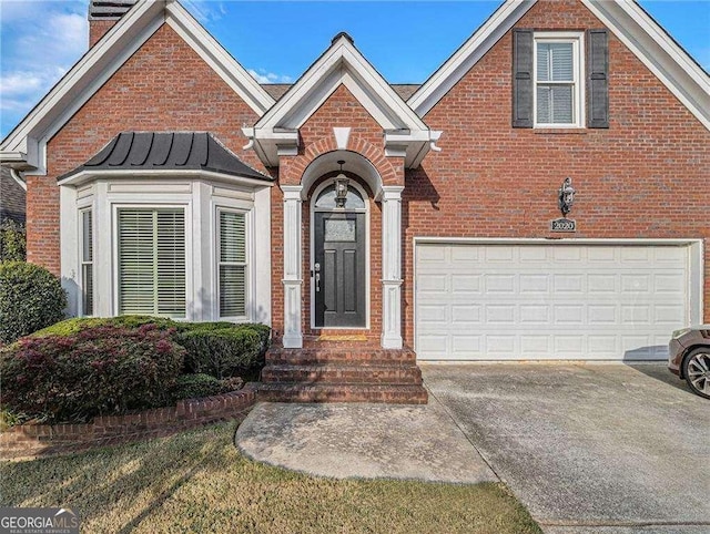
{"label": "dark shutter on the right side of the upstairs window", "polygon": [[587,30],[587,126],[609,127],[609,34]]}

